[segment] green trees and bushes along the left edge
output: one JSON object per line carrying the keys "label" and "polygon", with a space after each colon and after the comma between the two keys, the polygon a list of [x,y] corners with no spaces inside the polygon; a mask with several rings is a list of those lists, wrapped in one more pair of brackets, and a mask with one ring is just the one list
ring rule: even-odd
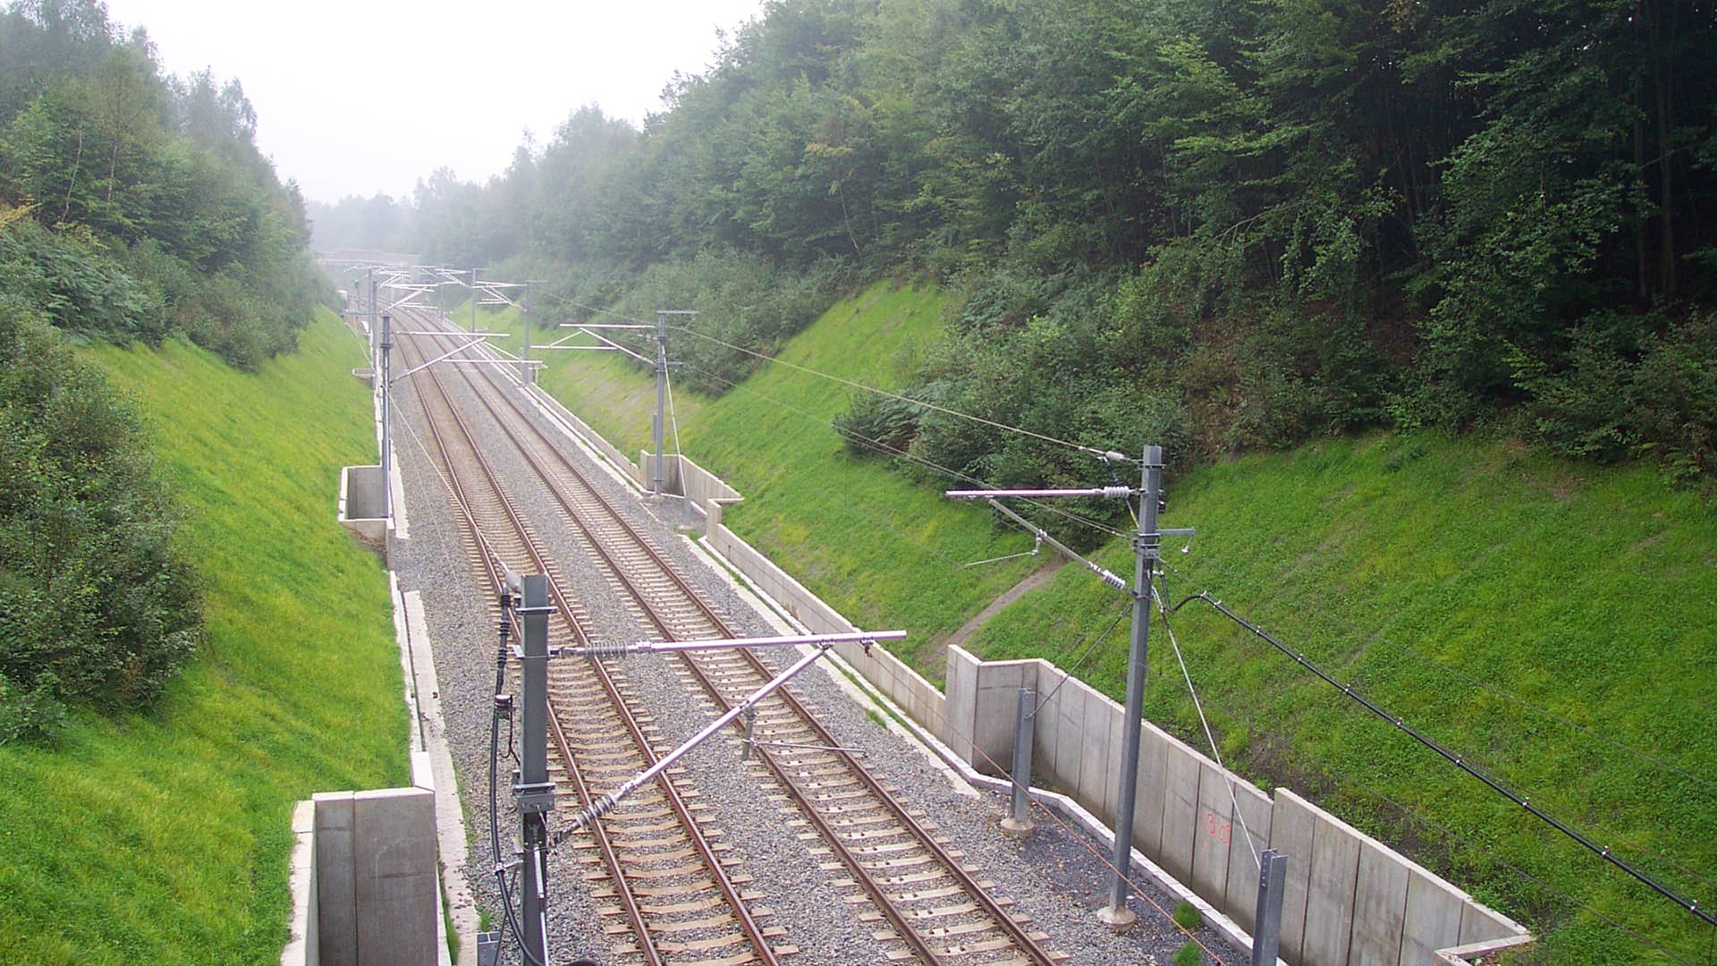
{"label": "green trees and bushes along the left edge", "polygon": [[333,297],[237,81],[165,76],[96,0],[0,12],[0,743],[136,710],[201,638],[143,416],[74,340],[240,368]]}

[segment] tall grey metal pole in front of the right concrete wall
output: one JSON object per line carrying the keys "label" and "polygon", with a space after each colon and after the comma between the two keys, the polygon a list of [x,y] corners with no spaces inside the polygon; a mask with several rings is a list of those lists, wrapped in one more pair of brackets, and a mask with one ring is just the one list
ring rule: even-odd
{"label": "tall grey metal pole in front of the right concrete wall", "polygon": [[1126,718],[1121,746],[1121,787],[1114,813],[1114,883],[1109,906],[1097,913],[1104,923],[1121,928],[1138,918],[1126,908],[1126,877],[1133,866],[1133,804],[1138,794],[1140,717],[1145,706],[1145,658],[1150,653],[1150,576],[1157,562],[1157,495],[1162,492],[1162,447],[1145,447],[1144,495],[1138,500],[1138,535],[1133,540],[1133,645],[1126,658]]}

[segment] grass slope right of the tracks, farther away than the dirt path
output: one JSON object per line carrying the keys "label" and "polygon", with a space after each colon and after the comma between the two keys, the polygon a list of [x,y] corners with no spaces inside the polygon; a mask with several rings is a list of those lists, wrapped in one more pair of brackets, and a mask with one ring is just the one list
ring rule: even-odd
{"label": "grass slope right of the tracks, farther away than the dirt path", "polygon": [[[877,284],[829,309],[781,361],[865,385],[895,387],[941,332],[943,296]],[[455,313],[455,318],[464,318]],[[507,325],[491,318],[484,325]],[[689,339],[675,333],[673,337]],[[670,337],[670,352],[671,339]],[[517,345],[515,345],[517,347]],[[654,382],[613,352],[544,354],[543,387],[627,452],[649,445]],[[907,629],[900,648],[941,681],[936,645],[1030,572],[1030,559],[965,567],[1030,550],[986,512],[913,486],[877,459],[853,457],[829,428],[852,388],[764,366],[707,400],[675,395],[685,452],[745,493],[725,523],[862,627]],[[666,449],[673,450],[670,435]]]}

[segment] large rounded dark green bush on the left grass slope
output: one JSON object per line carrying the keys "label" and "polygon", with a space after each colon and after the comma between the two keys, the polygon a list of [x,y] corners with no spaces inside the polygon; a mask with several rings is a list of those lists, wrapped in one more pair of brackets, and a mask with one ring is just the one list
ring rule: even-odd
{"label": "large rounded dark green bush on the left grass slope", "polygon": [[146,706],[192,655],[173,524],[136,409],[0,297],[0,739]]}

